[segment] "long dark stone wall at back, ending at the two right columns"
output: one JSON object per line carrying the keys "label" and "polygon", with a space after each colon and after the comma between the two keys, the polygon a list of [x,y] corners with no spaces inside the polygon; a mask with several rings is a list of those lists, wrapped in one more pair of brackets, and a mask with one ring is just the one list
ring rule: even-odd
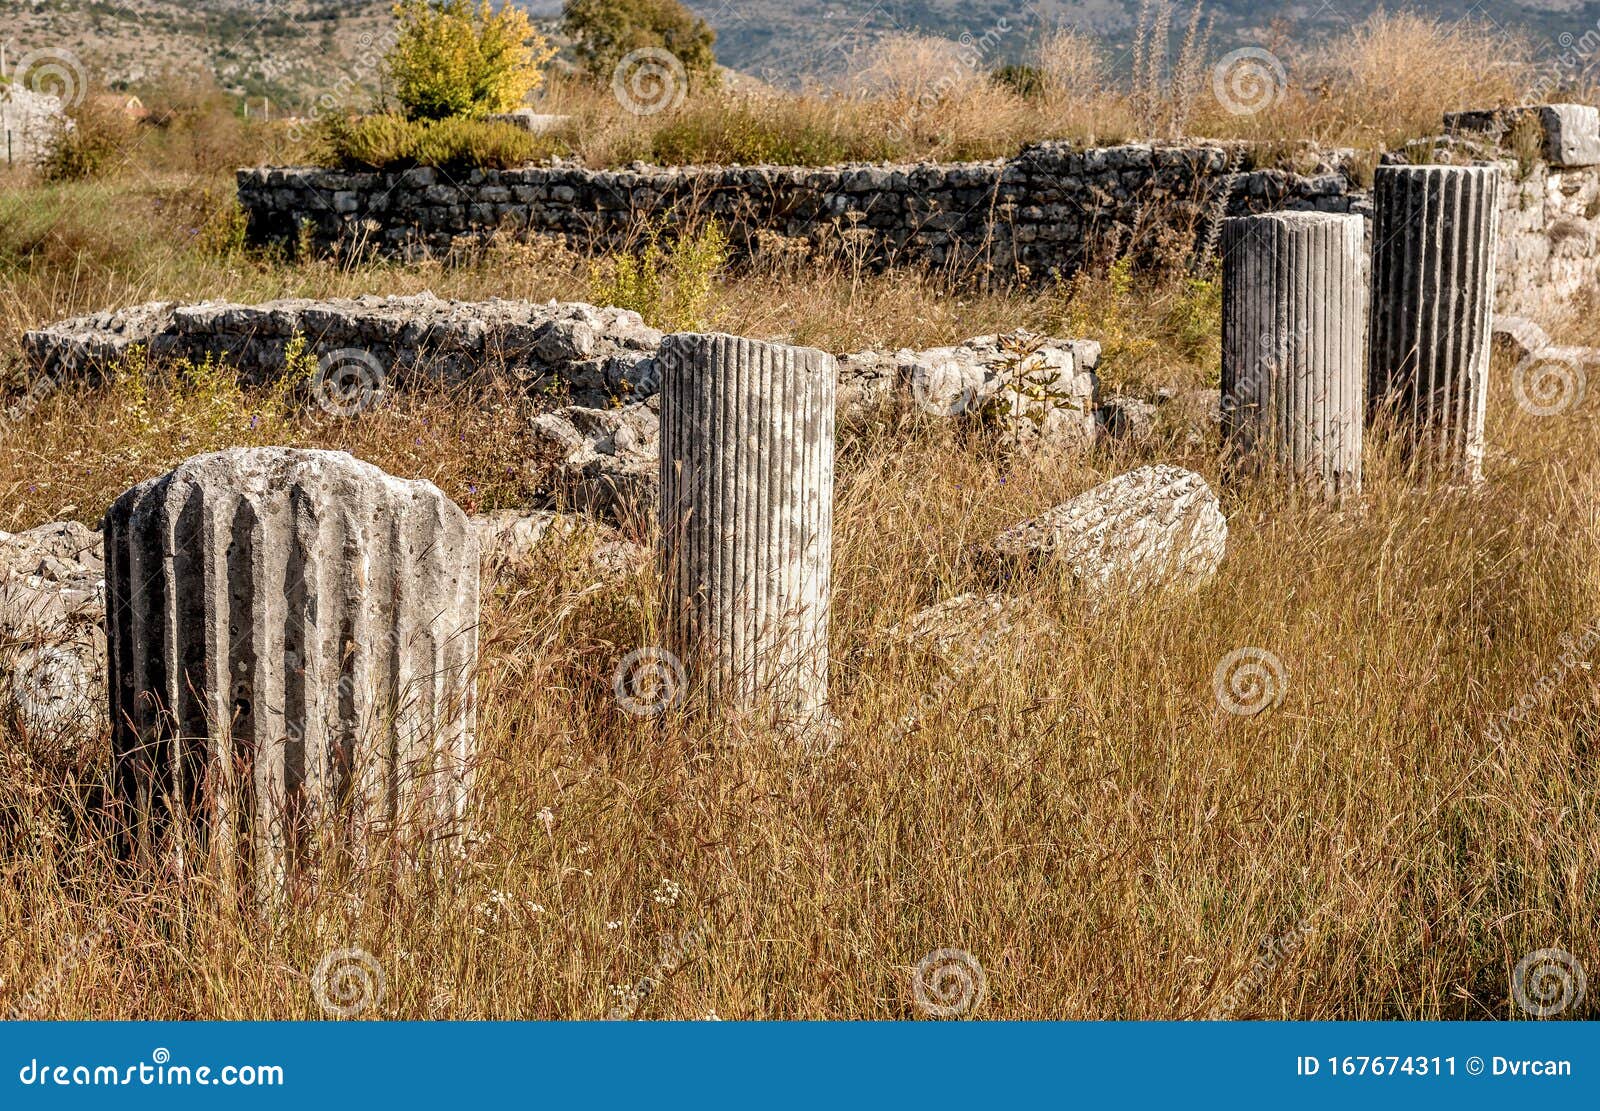
{"label": "long dark stone wall at back, ending at the two right columns", "polygon": [[1362,205],[1336,160],[1314,174],[1248,170],[1214,142],[1040,142],[1005,162],[824,168],[258,168],[240,170],[238,199],[253,240],[317,251],[440,255],[496,229],[614,248],[646,221],[715,216],[741,253],[803,245],[1002,279],[1070,274],[1098,251],[1187,251],[1222,215]]}

